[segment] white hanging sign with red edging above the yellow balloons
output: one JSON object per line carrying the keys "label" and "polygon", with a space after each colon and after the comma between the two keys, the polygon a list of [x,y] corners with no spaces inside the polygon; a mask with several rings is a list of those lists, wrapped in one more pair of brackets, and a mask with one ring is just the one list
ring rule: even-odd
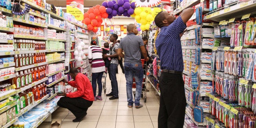
{"label": "white hanging sign with red edging above the yellow balloons", "polygon": [[161,0],[135,0],[136,7],[155,7],[161,3]]}

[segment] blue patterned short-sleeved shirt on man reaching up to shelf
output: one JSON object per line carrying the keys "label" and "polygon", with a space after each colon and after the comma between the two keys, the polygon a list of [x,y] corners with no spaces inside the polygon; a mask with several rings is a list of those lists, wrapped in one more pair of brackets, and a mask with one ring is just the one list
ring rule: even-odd
{"label": "blue patterned short-sleeved shirt on man reaching up to shelf", "polygon": [[161,60],[161,69],[183,72],[183,57],[181,38],[179,34],[186,28],[179,16],[169,26],[161,27],[155,42],[157,53]]}

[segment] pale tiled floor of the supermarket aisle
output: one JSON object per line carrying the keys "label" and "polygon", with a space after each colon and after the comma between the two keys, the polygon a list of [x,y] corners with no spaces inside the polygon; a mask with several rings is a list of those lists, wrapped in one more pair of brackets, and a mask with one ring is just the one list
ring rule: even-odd
{"label": "pale tiled floor of the supermarket aisle", "polygon": [[[118,66],[119,67],[119,66]],[[61,128],[157,128],[157,115],[159,112],[159,95],[155,94],[154,88],[148,83],[147,102],[141,98],[142,108],[135,106],[128,108],[126,97],[126,80],[124,74],[117,74],[119,99],[109,100],[102,92],[102,101],[95,101],[87,111],[86,117],[79,122],[73,123],[75,116],[65,108],[58,108],[52,119],[62,119]],[[110,80],[106,79],[106,93],[111,91]],[[50,128],[49,122],[43,122],[39,128]]]}

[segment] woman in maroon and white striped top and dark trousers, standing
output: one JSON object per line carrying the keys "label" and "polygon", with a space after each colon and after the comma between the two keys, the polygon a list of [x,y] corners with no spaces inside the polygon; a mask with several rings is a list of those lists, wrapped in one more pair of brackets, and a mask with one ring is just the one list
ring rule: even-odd
{"label": "woman in maroon and white striped top and dark trousers, standing", "polygon": [[[105,64],[102,59],[102,49],[101,47],[97,46],[97,43],[95,40],[92,40],[90,42],[89,48],[88,48],[88,60],[92,67],[92,86],[93,86],[93,94],[94,94],[94,101],[102,100],[102,75],[104,73]],[[96,97],[96,81],[99,86],[99,92]]]}

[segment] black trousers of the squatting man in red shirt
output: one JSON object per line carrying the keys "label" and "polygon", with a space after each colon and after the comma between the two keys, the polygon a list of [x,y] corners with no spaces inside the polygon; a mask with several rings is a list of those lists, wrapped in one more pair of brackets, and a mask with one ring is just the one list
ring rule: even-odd
{"label": "black trousers of the squatting man in red shirt", "polygon": [[69,98],[61,97],[57,102],[57,105],[62,108],[67,108],[75,115],[76,118],[84,115],[88,108],[93,104],[93,101],[88,101],[82,97]]}

